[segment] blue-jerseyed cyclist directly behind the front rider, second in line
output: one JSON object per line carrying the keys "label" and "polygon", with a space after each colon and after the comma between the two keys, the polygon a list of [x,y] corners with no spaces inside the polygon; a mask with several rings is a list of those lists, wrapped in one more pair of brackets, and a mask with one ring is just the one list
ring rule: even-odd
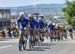
{"label": "blue-jerseyed cyclist directly behind the front rider, second in line", "polygon": [[29,16],[29,24],[30,24],[30,35],[31,35],[31,47],[35,45],[35,27],[36,22],[33,16]]}

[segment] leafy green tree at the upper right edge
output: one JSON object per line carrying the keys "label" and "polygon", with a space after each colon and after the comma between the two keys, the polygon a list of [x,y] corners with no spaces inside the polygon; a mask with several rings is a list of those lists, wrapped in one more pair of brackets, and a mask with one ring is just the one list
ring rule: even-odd
{"label": "leafy green tree at the upper right edge", "polygon": [[75,19],[73,19],[75,17],[75,1],[68,1],[66,0],[66,7],[63,8],[64,11],[64,15],[66,17],[66,21],[68,22],[68,24],[72,25],[75,23]]}

